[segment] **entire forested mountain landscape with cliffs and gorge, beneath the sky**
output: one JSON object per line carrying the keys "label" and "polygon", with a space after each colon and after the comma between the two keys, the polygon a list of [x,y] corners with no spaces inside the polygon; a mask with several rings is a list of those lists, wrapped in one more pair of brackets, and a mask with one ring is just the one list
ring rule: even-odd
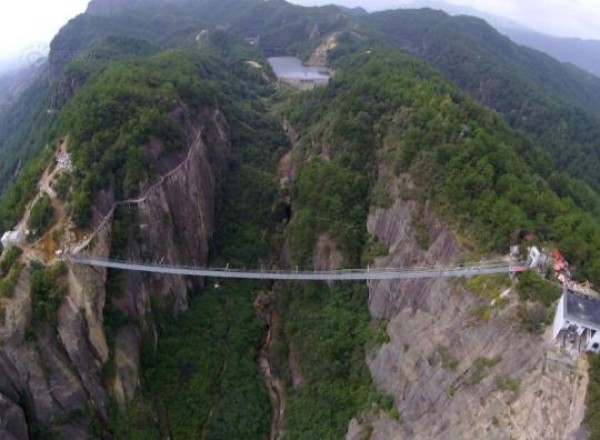
{"label": "entire forested mountain landscape with cliffs and gorge, beneath the sky", "polygon": [[[288,88],[273,54],[335,75]],[[209,282],[60,257],[458,266],[526,230],[598,285],[599,91],[431,10],[94,0],[0,121],[0,225],[30,230],[0,260],[0,436],[574,435],[585,381],[545,361],[560,289],[534,272]]]}

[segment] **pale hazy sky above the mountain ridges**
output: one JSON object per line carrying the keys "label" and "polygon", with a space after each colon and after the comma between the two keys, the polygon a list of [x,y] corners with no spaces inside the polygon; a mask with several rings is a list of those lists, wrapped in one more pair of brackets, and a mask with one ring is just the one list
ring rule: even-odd
{"label": "pale hazy sky above the mountain ridges", "polygon": [[[411,0],[333,0],[368,10],[393,9]],[[559,36],[600,40],[599,0],[446,0],[504,16],[533,29]],[[4,2],[3,2],[4,3]],[[88,0],[16,0],[0,4],[0,60],[30,59],[70,18],[83,12]],[[316,5],[331,0],[293,0]]]}

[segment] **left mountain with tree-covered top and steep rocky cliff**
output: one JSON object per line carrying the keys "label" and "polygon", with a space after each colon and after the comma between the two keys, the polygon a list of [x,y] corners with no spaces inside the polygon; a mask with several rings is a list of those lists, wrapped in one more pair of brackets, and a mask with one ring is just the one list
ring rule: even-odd
{"label": "left mountain with tree-covered top and steep rocky cliff", "polygon": [[[260,110],[262,75],[243,58],[230,62],[224,75],[221,68],[228,65],[227,59],[209,53],[175,51],[145,60],[117,59],[89,78],[57,115],[56,136],[65,139],[76,172],[65,174],[65,200],[53,201],[52,229],[24,245],[27,260],[11,272],[11,280],[16,273],[16,286],[9,288],[2,272],[0,335],[8,356],[2,377],[12,377],[8,371],[14,365],[21,373],[2,382],[0,392],[22,408],[31,435],[70,437],[113,429],[109,419],[116,415],[110,399],[123,407],[135,396],[141,364],[151,355],[145,350],[156,347],[162,325],[158,317],[186,310],[189,292],[202,282],[71,267],[71,281],[65,290],[53,292],[50,301],[48,283],[57,281],[48,278],[52,281],[41,283],[39,293],[31,293],[34,271],[28,260],[52,264],[53,251],[48,255],[43,243],[54,243],[54,249],[78,246],[96,256],[207,264],[219,183],[229,166],[246,156],[256,161],[269,158],[281,147],[278,143],[285,142],[277,135],[278,125]],[[233,154],[231,142],[237,145]],[[256,145],[260,151],[253,155]],[[37,183],[44,168],[53,167],[54,151],[47,151],[50,154],[39,159],[41,169],[22,174],[17,187],[23,186],[23,179]],[[126,197],[139,200],[116,203]],[[2,199],[3,219],[19,217],[13,201]],[[64,229],[55,227],[59,211],[74,215],[87,234],[97,232],[82,243],[83,231],[67,232],[70,219],[60,219]],[[97,229],[99,225],[104,228]],[[54,272],[41,273],[45,279],[50,277],[46,273]],[[253,331],[261,334],[258,326]],[[60,338],[53,336],[57,333]],[[31,357],[42,345],[47,351]],[[250,383],[262,390],[258,368],[250,364],[250,369],[255,372]],[[16,400],[9,392],[13,388],[21,396]]]}

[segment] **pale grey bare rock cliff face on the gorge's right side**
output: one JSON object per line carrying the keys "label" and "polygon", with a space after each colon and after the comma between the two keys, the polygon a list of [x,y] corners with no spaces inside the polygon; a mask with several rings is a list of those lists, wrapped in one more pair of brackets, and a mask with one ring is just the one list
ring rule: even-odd
{"label": "pale grey bare rock cliff face on the gorge's right side", "polygon": [[[426,206],[427,250],[419,247],[414,201],[373,209],[369,232],[389,246],[380,267],[452,265],[465,251]],[[460,280],[381,281],[369,308],[388,319],[389,342],[367,359],[376,387],[394,397],[400,417],[353,420],[347,439],[579,438],[585,369],[551,350],[548,336],[519,331],[516,295],[492,308]],[[487,304],[489,305],[489,299]]]}

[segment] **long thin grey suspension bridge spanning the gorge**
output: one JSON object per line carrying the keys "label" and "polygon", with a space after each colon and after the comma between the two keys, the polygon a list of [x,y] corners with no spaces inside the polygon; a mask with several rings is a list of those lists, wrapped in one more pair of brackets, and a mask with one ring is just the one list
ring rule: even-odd
{"label": "long thin grey suspension bridge spanning the gorge", "polygon": [[470,277],[498,273],[522,272],[526,267],[511,265],[506,261],[487,261],[459,267],[418,267],[418,268],[367,268],[342,269],[333,271],[293,271],[293,270],[247,270],[219,269],[172,264],[142,263],[100,258],[88,258],[72,255],[68,258],[73,264],[104,267],[110,269],[150,272],[167,275],[183,275],[208,278],[237,278],[246,280],[282,280],[282,281],[366,281],[366,280],[402,280],[424,278]]}

